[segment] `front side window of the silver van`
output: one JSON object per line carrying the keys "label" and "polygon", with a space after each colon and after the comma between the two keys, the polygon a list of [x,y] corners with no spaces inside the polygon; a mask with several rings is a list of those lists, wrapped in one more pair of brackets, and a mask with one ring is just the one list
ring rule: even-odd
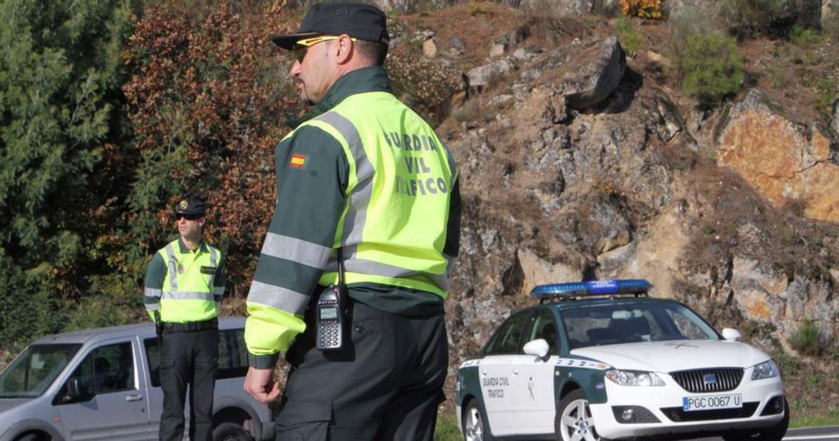
{"label": "front side window of the silver van", "polygon": [[[112,392],[135,391],[134,355],[131,342],[106,345],[91,351],[70,374],[59,393],[67,396],[68,383],[78,381],[81,397],[90,398]],[[64,400],[65,402],[67,400]]]}

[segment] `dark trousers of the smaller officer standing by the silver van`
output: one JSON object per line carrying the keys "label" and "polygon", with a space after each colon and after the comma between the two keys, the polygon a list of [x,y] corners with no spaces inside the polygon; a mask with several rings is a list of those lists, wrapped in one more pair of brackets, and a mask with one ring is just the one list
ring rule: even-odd
{"label": "dark trousers of the smaller officer standing by the silver van", "polygon": [[212,400],[218,366],[218,329],[164,334],[160,354],[163,388],[162,441],[184,436],[184,403],[190,387],[190,439],[212,441]]}

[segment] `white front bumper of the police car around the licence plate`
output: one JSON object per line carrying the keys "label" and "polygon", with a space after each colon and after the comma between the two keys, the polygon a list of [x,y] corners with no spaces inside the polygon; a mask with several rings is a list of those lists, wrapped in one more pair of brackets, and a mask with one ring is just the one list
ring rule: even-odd
{"label": "white front bumper of the police car around the licence plate", "polygon": [[[747,371],[747,373],[749,373]],[[607,402],[590,404],[591,416],[594,418],[597,433],[604,438],[626,438],[644,435],[668,433],[719,433],[726,430],[767,428],[777,424],[783,417],[783,412],[762,415],[774,397],[784,401],[784,391],[780,377],[752,381],[750,376],[744,376],[737,388],[727,392],[691,393],[685,391],[666,374],[657,374],[666,383],[663,387],[626,387],[619,386],[606,380]],[[716,397],[722,395],[740,394],[743,397],[741,409],[723,411],[688,411],[683,410],[685,397]],[[618,407],[615,412],[614,407]],[[633,407],[636,415],[646,415],[648,418],[638,418],[643,423],[619,422],[622,419],[621,409]],[[650,421],[649,414],[638,411],[643,407],[658,422]],[[698,413],[702,412],[702,413]],[[618,415],[616,415],[618,413]]]}

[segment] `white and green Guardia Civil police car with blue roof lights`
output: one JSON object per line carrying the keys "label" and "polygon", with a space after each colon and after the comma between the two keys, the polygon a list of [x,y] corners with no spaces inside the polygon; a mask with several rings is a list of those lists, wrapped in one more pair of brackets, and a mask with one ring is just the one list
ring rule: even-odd
{"label": "white and green Guardia Civil police car with blue roof lights", "polygon": [[779,440],[778,367],[646,280],[540,285],[457,372],[467,441],[722,435]]}

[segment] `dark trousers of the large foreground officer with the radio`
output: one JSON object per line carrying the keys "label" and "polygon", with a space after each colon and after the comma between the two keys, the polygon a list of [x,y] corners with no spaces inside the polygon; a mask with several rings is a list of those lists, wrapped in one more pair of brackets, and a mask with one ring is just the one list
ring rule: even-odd
{"label": "dark trousers of the large foreground officer with the radio", "polygon": [[345,347],[320,351],[313,310],[286,356],[277,440],[431,441],[446,399],[444,314],[405,317],[351,302]]}

